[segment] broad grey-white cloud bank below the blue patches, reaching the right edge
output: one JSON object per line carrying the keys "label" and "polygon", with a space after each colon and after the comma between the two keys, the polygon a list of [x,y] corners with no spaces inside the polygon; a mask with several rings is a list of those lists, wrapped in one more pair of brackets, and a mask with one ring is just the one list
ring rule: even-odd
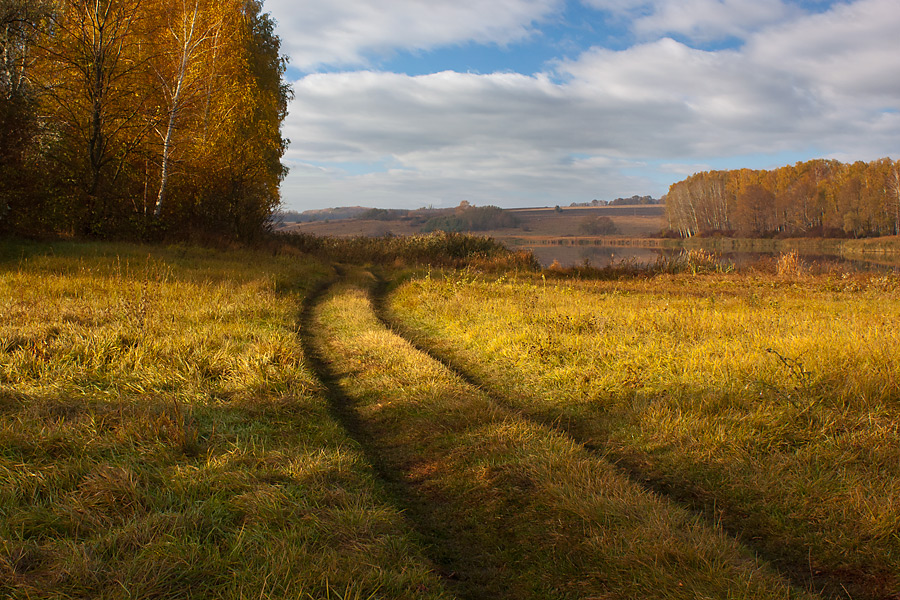
{"label": "broad grey-white cloud bank below the blue patches, reaching the right edge", "polygon": [[[796,17],[739,49],[668,38],[596,48],[546,74],[309,75],[295,83],[287,122],[298,167],[285,199],[567,204],[662,193],[649,162],[674,181],[728,156],[897,154],[894,1]],[[359,163],[384,168],[354,175]]]}

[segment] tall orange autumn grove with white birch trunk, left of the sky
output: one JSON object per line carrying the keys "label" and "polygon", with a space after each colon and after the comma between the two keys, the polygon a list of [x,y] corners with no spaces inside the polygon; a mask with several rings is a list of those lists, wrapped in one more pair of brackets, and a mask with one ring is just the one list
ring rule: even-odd
{"label": "tall orange autumn grove with white birch trunk, left of the sky", "polygon": [[290,88],[261,0],[0,0],[0,230],[246,238]]}

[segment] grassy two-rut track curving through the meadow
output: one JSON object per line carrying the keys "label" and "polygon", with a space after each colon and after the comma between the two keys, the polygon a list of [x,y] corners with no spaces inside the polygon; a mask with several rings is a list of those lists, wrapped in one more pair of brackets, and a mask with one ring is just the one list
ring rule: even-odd
{"label": "grassy two-rut track curving through the meadow", "polygon": [[461,598],[812,598],[561,431],[391,332],[371,275],[304,310],[335,416]]}

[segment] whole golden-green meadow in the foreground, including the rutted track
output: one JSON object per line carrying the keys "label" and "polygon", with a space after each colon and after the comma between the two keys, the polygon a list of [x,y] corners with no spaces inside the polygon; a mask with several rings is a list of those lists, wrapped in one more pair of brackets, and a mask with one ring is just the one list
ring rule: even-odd
{"label": "whole golden-green meadow in the foreground, including the rutted track", "polygon": [[0,596],[900,597],[896,275],[391,244],[4,243]]}

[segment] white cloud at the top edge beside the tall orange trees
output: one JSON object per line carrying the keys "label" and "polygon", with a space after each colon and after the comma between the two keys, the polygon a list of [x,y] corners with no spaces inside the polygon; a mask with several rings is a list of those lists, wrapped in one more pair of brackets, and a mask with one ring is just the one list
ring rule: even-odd
{"label": "white cloud at the top edge beside the tall orange trees", "polygon": [[365,65],[370,53],[453,44],[509,44],[564,0],[267,0],[282,50],[302,70]]}

